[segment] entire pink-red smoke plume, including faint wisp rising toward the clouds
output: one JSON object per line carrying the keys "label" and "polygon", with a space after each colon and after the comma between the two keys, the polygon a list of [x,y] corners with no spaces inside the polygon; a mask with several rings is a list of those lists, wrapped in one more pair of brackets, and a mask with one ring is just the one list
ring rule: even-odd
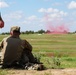
{"label": "entire pink-red smoke plume, including faint wisp rising toward the clouds", "polygon": [[57,19],[53,19],[53,21],[49,20],[48,14],[45,15],[46,28],[50,34],[66,34],[69,32],[69,28],[65,23],[61,23],[61,21]]}

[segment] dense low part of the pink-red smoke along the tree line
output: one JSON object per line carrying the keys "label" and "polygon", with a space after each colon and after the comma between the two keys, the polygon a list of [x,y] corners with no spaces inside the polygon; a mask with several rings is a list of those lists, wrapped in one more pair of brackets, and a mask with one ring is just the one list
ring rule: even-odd
{"label": "dense low part of the pink-red smoke along the tree line", "polygon": [[69,31],[68,27],[66,27],[64,24],[57,26],[47,25],[47,30],[51,34],[66,34]]}

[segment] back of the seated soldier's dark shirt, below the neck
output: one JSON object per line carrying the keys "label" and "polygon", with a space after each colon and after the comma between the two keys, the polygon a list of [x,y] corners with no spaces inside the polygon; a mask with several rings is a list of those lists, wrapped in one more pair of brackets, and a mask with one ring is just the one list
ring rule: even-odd
{"label": "back of the seated soldier's dark shirt, below the neck", "polygon": [[21,57],[22,41],[20,38],[5,38],[3,47],[3,63],[11,64],[14,61],[18,61]]}

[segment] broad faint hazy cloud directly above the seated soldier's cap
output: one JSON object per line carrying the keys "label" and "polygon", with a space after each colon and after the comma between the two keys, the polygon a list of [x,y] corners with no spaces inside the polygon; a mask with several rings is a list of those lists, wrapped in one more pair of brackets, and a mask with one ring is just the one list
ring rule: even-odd
{"label": "broad faint hazy cloud directly above the seated soldier's cap", "polygon": [[22,11],[14,11],[8,14],[3,15],[5,23],[19,23],[24,19],[24,15]]}

